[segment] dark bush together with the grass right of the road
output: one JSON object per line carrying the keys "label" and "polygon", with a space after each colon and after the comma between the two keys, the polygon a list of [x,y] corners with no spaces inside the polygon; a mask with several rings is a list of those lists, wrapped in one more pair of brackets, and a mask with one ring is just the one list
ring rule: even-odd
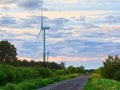
{"label": "dark bush together with the grass right of the road", "polygon": [[120,90],[120,58],[108,56],[103,64],[91,74],[84,90]]}

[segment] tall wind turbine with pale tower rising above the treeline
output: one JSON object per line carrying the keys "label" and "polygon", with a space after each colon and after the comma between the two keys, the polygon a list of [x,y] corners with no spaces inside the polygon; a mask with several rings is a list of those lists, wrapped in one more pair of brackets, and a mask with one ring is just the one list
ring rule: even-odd
{"label": "tall wind turbine with pale tower rising above the treeline", "polygon": [[43,62],[46,62],[46,29],[49,29],[49,27],[44,26],[42,9],[43,8],[41,5],[41,30],[37,36],[37,39],[39,38],[40,33],[43,31]]}

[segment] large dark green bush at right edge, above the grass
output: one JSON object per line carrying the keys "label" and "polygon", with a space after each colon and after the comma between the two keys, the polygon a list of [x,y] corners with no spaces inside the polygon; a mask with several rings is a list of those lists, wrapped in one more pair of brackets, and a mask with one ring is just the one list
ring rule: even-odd
{"label": "large dark green bush at right edge, above the grass", "polygon": [[101,71],[103,77],[120,81],[120,57],[108,56],[103,64]]}

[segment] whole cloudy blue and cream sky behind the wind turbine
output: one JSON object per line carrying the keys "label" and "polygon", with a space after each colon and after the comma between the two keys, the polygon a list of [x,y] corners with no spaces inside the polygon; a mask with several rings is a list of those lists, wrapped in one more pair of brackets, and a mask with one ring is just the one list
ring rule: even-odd
{"label": "whole cloudy blue and cream sky behind the wind turbine", "polygon": [[120,0],[0,0],[0,41],[18,58],[42,60],[41,6],[49,61],[94,69],[120,55]]}

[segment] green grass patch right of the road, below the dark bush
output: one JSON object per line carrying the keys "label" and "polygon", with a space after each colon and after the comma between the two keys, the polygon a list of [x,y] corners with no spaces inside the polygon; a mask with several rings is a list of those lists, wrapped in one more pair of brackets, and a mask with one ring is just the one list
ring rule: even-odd
{"label": "green grass patch right of the road, below the dark bush", "polygon": [[91,77],[89,78],[84,90],[120,90],[120,82],[110,79]]}

